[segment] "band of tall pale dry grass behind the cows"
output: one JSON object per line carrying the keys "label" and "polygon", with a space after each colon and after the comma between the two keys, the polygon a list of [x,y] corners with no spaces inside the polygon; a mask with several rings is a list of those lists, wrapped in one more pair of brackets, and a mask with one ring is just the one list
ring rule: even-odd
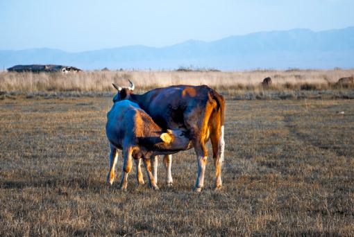
{"label": "band of tall pale dry grass behind the cows", "polygon": [[[354,70],[287,71],[83,71],[62,73],[0,73],[0,91],[114,91],[112,82],[128,85],[135,82],[140,91],[169,85],[209,85],[226,94],[237,91],[262,91],[260,82],[268,76],[273,85],[268,90],[294,91],[336,89],[339,78],[354,75]],[[310,85],[306,87],[306,85]],[[349,88],[353,89],[354,85]],[[342,89],[339,88],[339,89]]]}

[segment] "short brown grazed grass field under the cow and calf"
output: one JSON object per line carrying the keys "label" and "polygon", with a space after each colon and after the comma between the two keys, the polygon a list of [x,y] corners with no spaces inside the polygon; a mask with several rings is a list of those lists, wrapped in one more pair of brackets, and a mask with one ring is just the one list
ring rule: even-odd
{"label": "short brown grazed grass field under the cow and calf", "polygon": [[135,168],[127,192],[106,188],[111,105],[0,100],[0,236],[354,236],[353,100],[228,98],[224,186],[209,156],[201,193],[193,150],[174,155],[171,188],[162,162],[160,191]]}

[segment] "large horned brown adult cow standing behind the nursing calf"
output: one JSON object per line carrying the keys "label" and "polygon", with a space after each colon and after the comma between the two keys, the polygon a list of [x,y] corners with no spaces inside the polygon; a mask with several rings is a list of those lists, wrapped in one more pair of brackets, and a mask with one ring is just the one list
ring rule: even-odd
{"label": "large horned brown adult cow standing behind the nursing calf", "polygon": [[196,191],[201,191],[204,185],[207,161],[205,143],[210,139],[215,166],[215,188],[221,188],[221,166],[224,162],[225,146],[223,96],[206,85],[176,85],[152,89],[145,94],[134,94],[133,82],[130,82],[130,87],[113,86],[118,91],[113,98],[114,102],[133,101],[162,129],[181,130],[187,134],[194,146],[198,163]]}

